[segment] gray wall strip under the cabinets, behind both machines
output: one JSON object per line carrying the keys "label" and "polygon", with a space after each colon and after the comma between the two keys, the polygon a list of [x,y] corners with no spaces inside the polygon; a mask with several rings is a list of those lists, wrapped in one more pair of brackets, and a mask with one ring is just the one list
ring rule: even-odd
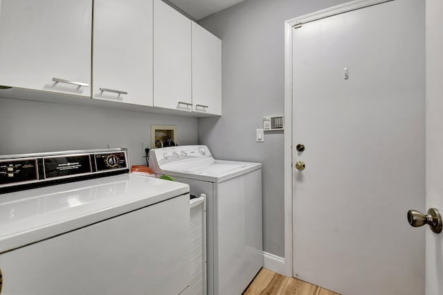
{"label": "gray wall strip under the cabinets, behind both machines", "polygon": [[[84,98],[79,98],[84,99]],[[145,163],[151,124],[177,125],[177,142],[197,144],[197,118],[0,98],[0,154],[127,147]],[[143,153],[142,153],[143,152]]]}

